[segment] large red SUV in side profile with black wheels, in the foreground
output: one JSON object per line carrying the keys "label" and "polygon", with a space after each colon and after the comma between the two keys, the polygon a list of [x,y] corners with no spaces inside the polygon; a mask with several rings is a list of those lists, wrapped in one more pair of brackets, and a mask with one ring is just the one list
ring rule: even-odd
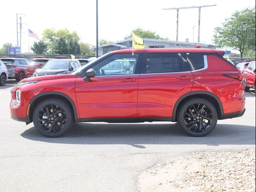
{"label": "large red SUV in side profile with black wheels, in the foreground", "polygon": [[[217,120],[245,112],[241,72],[222,50],[181,48],[118,50],[72,74],[22,80],[11,93],[14,120],[34,123],[47,137],[74,122],[178,122],[191,136],[205,136]],[[133,68],[116,70],[134,60]],[[108,73],[104,68],[108,66]]]}

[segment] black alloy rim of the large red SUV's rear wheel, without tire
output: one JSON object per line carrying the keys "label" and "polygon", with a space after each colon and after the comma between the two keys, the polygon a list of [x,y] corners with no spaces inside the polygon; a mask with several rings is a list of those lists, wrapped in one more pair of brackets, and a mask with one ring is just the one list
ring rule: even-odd
{"label": "black alloy rim of the large red SUV's rear wheel, without tire", "polygon": [[196,103],[186,108],[183,120],[188,130],[201,133],[212,125],[213,114],[207,105]]}

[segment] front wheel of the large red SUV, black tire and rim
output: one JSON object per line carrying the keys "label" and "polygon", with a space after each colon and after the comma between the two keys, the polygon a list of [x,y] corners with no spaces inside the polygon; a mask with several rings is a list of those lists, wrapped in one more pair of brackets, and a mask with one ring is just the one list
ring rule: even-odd
{"label": "front wheel of the large red SUV, black tire and rim", "polygon": [[59,99],[44,100],[36,106],[33,112],[36,130],[46,137],[62,136],[70,130],[73,122],[74,115],[70,106]]}

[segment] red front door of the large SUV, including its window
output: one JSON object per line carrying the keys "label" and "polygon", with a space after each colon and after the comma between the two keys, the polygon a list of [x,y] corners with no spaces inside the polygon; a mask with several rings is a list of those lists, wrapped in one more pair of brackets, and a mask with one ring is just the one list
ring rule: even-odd
{"label": "red front door of the large SUV, including its window", "polygon": [[[76,100],[82,121],[89,118],[137,118],[139,54],[113,54],[92,66],[96,76],[76,79]],[[135,60],[127,68],[127,60]]]}

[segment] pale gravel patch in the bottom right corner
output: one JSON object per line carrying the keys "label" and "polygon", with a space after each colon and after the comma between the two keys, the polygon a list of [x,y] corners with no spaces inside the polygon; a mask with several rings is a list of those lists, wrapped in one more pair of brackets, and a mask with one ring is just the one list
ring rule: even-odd
{"label": "pale gravel patch in the bottom right corner", "polygon": [[255,149],[193,153],[139,177],[141,192],[255,192]]}

